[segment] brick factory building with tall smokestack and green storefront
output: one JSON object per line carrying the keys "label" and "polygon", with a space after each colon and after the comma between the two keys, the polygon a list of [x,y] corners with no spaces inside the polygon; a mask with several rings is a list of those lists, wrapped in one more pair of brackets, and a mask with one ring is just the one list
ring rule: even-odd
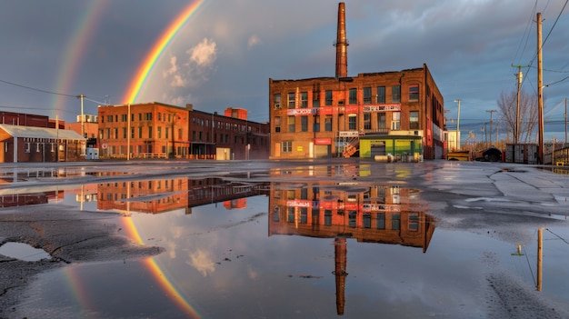
{"label": "brick factory building with tall smokestack and green storefront", "polygon": [[427,65],[348,76],[344,19],[341,3],[335,77],[269,79],[271,158],[442,158],[444,98]]}

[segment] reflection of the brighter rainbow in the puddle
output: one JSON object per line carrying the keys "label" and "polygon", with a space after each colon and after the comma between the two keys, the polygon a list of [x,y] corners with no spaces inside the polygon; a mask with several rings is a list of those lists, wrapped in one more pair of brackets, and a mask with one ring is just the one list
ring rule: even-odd
{"label": "reflection of the brighter rainbow in the puddle", "polygon": [[[131,217],[123,218],[125,230],[128,237],[133,239],[136,244],[145,244],[140,234],[135,222]],[[166,292],[168,297],[175,302],[175,304],[182,309],[185,314],[188,314],[191,318],[200,318],[194,307],[185,300],[183,294],[181,294],[168,276],[160,269],[160,266],[156,263],[155,258],[147,258],[143,261],[145,266],[150,270],[150,273],[155,277],[155,281],[160,284],[162,289]]]}

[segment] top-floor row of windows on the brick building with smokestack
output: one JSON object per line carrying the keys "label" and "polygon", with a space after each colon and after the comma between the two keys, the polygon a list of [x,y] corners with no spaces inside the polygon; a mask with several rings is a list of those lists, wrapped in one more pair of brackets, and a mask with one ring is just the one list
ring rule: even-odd
{"label": "top-floor row of windows on the brick building with smokestack", "polygon": [[[373,96],[372,87],[364,87],[362,90],[362,104],[384,104],[386,103],[385,86],[377,86],[375,88],[375,96]],[[408,102],[418,102],[419,101],[419,85],[409,85],[408,86]],[[313,92],[313,102],[312,107],[320,107],[320,92]],[[286,95],[286,108],[306,108],[308,107],[308,92],[300,92],[298,96],[298,104],[296,102],[296,94],[288,93]],[[389,103],[401,103],[401,85],[391,86],[391,100]],[[275,94],[273,96],[273,103],[275,108],[282,107],[282,96],[281,94]],[[331,106],[334,105],[333,90],[324,91],[324,105]],[[337,105],[344,105],[344,99],[339,99]],[[358,105],[358,90],[357,88],[348,89],[348,105]]]}

